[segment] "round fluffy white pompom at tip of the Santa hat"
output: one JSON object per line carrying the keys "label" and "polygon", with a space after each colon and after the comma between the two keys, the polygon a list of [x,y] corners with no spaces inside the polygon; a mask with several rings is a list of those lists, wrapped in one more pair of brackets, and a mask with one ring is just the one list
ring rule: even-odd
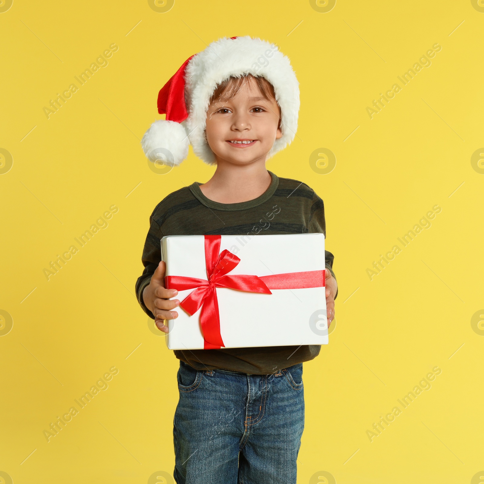
{"label": "round fluffy white pompom at tip of the Santa hat", "polygon": [[163,160],[168,166],[178,166],[188,156],[190,142],[185,128],[178,122],[159,120],[151,124],[141,140],[146,157]]}

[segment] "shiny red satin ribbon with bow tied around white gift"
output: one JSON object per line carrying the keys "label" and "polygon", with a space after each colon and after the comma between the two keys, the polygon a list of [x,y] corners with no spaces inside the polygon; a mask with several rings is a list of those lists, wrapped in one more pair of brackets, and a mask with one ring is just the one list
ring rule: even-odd
{"label": "shiny red satin ribbon with bow tied around white gift", "polygon": [[218,312],[217,291],[215,287],[228,287],[246,292],[260,292],[272,294],[270,289],[300,289],[307,287],[324,287],[325,272],[305,271],[287,272],[273,275],[227,275],[237,264],[240,258],[227,249],[220,252],[220,235],[205,235],[205,265],[207,279],[185,277],[179,275],[165,276],[167,289],[193,290],[183,301],[180,307],[190,316],[201,307],[200,326],[203,334],[204,349],[220,349],[225,347],[220,334],[220,318]]}

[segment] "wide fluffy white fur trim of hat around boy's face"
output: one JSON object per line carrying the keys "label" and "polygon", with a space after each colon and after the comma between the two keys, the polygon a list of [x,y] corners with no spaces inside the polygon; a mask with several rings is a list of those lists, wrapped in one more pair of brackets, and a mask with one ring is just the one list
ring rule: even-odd
{"label": "wide fluffy white fur trim of hat around boy's face", "polygon": [[188,63],[185,71],[186,130],[195,154],[209,165],[215,156],[205,138],[206,112],[217,84],[230,76],[252,74],[274,87],[281,108],[282,137],[276,139],[267,158],[289,144],[296,134],[299,112],[299,83],[289,59],[278,47],[249,36],[212,42]]}

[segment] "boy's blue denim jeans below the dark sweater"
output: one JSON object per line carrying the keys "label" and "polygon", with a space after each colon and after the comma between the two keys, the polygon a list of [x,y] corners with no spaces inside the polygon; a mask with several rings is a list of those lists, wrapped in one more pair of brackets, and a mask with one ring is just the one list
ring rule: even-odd
{"label": "boy's blue denim jeans below the dark sweater", "polygon": [[173,421],[177,484],[296,484],[302,363],[271,375],[180,361]]}

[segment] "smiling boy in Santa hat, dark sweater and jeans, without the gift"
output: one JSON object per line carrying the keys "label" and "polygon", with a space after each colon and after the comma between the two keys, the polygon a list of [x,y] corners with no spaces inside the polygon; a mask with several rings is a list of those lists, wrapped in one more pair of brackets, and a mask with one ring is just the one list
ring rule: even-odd
{"label": "smiling boy in Santa hat, dark sweater and jeans, without the gift", "polygon": [[[147,156],[162,152],[178,165],[188,138],[203,161],[216,164],[209,181],[171,193],[150,217],[136,294],[161,331],[167,333],[164,320],[177,318],[180,304],[167,300],[177,291],[164,286],[163,236],[325,233],[321,198],[301,181],[278,178],[265,167],[292,141],[298,110],[298,82],[287,57],[250,37],[213,42],[160,91],[158,112],[166,120],[155,121],[143,137]],[[325,257],[329,326],[337,284],[333,254]],[[320,348],[175,350],[176,482],[296,483],[304,428],[302,362]]]}

